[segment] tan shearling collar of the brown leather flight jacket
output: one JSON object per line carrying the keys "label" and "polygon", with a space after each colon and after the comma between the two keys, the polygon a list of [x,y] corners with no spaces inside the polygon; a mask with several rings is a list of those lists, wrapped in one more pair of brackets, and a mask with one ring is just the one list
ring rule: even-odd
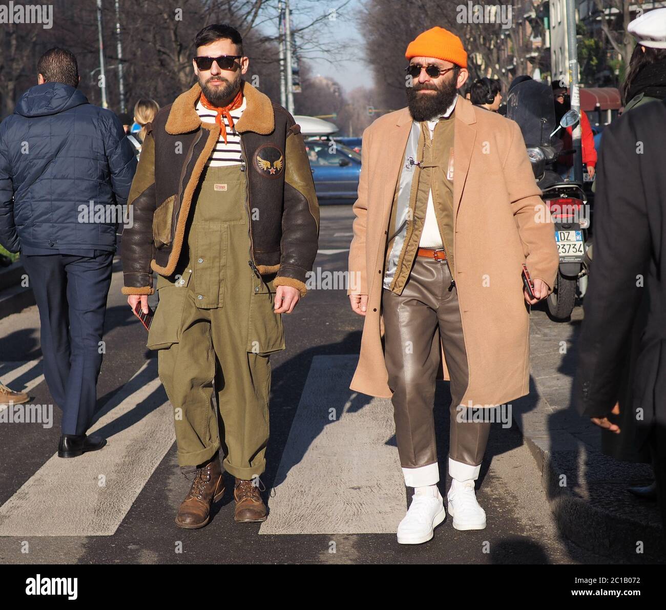
{"label": "tan shearling collar of the brown leather flight jacket", "polygon": [[[236,123],[236,131],[244,133],[253,131],[261,135],[268,135],[275,129],[275,117],[270,98],[264,95],[250,83],[241,81],[243,95],[247,100],[247,107]],[[199,83],[181,93],[171,105],[166,119],[166,133],[176,135],[195,131],[201,125],[201,119],[196,114],[196,102],[201,95]]]}

